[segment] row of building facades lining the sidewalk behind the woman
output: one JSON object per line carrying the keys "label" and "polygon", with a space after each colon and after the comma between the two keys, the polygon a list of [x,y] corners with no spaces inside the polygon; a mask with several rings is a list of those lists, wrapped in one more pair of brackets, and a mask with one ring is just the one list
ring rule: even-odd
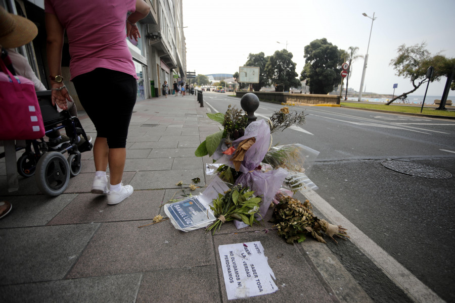
{"label": "row of building facades lining the sidewalk behind the woman", "polygon": [[[183,31],[182,0],[144,0],[150,7],[149,15],[138,22],[141,31],[139,41],[127,39],[136,74],[138,75],[138,100],[162,95],[162,85],[166,80],[185,80],[186,45]],[[24,55],[37,77],[49,88],[49,70],[46,56],[46,32],[44,22],[44,0],[0,0],[0,6],[8,12],[33,21],[38,27],[38,35],[17,51]],[[125,16],[126,19],[127,16]],[[66,39],[65,39],[66,40]],[[69,47],[63,46],[62,76],[70,78]],[[72,82],[65,84],[82,109]]]}

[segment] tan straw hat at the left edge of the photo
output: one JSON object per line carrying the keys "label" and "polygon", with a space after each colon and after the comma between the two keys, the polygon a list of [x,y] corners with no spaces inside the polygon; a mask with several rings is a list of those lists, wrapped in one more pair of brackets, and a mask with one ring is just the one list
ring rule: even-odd
{"label": "tan straw hat at the left edge of the photo", "polygon": [[38,28],[30,20],[8,13],[0,6],[0,45],[14,48],[27,44],[38,34]]}

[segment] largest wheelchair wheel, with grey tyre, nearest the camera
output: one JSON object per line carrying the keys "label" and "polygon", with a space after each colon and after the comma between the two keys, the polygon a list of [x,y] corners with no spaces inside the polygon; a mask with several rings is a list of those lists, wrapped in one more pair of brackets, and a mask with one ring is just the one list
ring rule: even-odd
{"label": "largest wheelchair wheel, with grey tyre, nearest the camera", "polygon": [[50,196],[57,196],[68,187],[70,167],[65,157],[58,151],[45,153],[36,166],[36,185]]}

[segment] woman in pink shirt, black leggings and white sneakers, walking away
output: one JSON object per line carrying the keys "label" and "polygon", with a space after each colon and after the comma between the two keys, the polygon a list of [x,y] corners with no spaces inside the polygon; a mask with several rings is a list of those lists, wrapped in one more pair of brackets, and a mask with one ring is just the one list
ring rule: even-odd
{"label": "woman in pink shirt, black leggings and white sneakers, walking away", "polygon": [[[137,76],[126,36],[136,41],[141,37],[135,23],[147,16],[150,7],[143,0],[45,0],[44,11],[52,102],[67,109],[69,95],[61,76],[66,31],[71,56],[69,80],[97,129],[92,193],[107,193],[108,204],[118,204],[133,192],[131,185],[121,183],[126,137],[137,92]],[[128,12],[131,14],[127,15]]]}

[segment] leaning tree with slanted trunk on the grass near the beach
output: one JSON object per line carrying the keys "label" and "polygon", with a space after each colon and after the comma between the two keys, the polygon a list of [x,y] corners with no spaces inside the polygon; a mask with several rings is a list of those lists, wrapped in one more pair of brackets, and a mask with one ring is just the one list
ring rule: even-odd
{"label": "leaning tree with slanted trunk on the grass near the beach", "polygon": [[403,92],[391,99],[386,105],[390,105],[396,99],[416,91],[422,84],[426,83],[426,73],[430,66],[434,67],[433,76],[430,82],[439,81],[443,76],[449,76],[455,65],[455,58],[446,58],[440,53],[432,56],[426,49],[427,44],[422,42],[411,46],[401,44],[397,48],[398,55],[390,61],[390,65],[396,71],[397,76],[409,78],[413,84],[413,89]]}

